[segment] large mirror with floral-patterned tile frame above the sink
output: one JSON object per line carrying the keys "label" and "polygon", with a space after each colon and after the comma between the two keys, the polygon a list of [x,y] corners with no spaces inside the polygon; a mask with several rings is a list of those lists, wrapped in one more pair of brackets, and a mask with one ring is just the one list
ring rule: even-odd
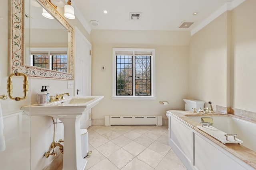
{"label": "large mirror with floral-patterned tile frame above the sink", "polygon": [[[35,0],[33,0],[35,2]],[[10,5],[9,33],[9,74],[23,72],[28,76],[40,78],[58,78],[73,80],[73,28],[58,13],[48,0],[36,0],[41,6],[31,6],[30,13],[25,12],[27,3],[24,0],[12,0]],[[31,0],[32,2],[32,0]],[[22,6],[25,4],[25,8]],[[34,3],[31,3],[34,4]],[[54,19],[42,16],[42,8],[48,11]],[[42,16],[42,17],[41,17]],[[30,19],[30,20],[29,20]],[[28,29],[30,28],[30,29]],[[25,36],[29,35],[30,36]],[[30,39],[26,37],[31,37]],[[63,53],[66,50],[66,70],[33,64],[31,55],[35,49],[40,53]],[[53,62],[54,63],[54,62]],[[33,66],[35,65],[35,66]],[[64,65],[64,64],[63,64]],[[42,68],[44,67],[44,68]]]}

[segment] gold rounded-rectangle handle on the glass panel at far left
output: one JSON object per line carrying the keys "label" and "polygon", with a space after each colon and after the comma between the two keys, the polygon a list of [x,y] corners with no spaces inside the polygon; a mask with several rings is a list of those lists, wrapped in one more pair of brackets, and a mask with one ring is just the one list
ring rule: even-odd
{"label": "gold rounded-rectangle handle on the glass panel at far left", "polygon": [[[24,92],[23,98],[12,97],[12,89],[13,89],[12,76],[23,76],[24,77],[24,79],[23,79],[23,92]],[[8,80],[7,80],[7,93],[8,93],[9,98],[12,100],[20,101],[20,100],[26,99],[26,97],[28,96],[28,77],[27,77],[27,75],[24,73],[21,73],[21,72],[15,72],[15,73],[10,74],[10,76],[8,77]]]}

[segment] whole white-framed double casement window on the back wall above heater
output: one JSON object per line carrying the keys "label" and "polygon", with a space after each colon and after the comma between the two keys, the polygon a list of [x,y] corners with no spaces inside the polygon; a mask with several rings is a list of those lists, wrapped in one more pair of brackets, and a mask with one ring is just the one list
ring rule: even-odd
{"label": "whole white-framed double casement window on the back wall above heater", "polygon": [[155,49],[113,48],[113,99],[156,99]]}

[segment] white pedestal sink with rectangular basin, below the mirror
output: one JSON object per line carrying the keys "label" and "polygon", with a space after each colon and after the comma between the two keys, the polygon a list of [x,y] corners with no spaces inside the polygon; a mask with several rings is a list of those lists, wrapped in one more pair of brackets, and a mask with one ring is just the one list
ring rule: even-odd
{"label": "white pedestal sink with rectangular basin, below the mirror", "polygon": [[21,107],[25,113],[58,118],[64,125],[64,154],[62,170],[84,170],[87,160],[82,158],[80,117],[104,96],[79,96],[49,103]]}

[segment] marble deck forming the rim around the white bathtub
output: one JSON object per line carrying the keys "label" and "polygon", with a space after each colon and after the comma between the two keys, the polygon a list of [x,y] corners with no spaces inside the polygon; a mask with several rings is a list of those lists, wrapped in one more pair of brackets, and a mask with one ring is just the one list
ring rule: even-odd
{"label": "marble deck forming the rim around the white bathtub", "polygon": [[220,111],[215,111],[213,114],[198,114],[198,113],[193,113],[192,111],[180,111],[180,110],[171,110],[168,111],[169,114],[172,114],[174,117],[197,131],[198,133],[202,134],[204,137],[208,138],[210,141],[214,142],[218,146],[222,147],[223,149],[227,150],[240,160],[246,162],[250,166],[252,166],[254,169],[256,169],[256,152],[238,144],[222,144],[220,141],[217,139],[213,138],[212,136],[208,135],[207,133],[204,133],[203,131],[199,130],[196,126],[201,125],[200,123],[190,119],[187,117],[187,115],[200,115],[200,116],[210,116],[210,115],[230,115],[233,117],[238,117],[240,119],[244,119],[246,121],[250,121],[252,123],[256,123],[255,120],[253,119],[248,119],[244,118],[238,115],[233,115],[233,114],[225,114]]}

